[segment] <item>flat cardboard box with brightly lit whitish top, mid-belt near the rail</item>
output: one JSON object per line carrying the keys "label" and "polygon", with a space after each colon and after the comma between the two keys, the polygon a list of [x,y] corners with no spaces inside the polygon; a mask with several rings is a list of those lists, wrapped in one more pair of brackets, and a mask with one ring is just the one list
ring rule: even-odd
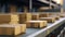
{"label": "flat cardboard box with brightly lit whitish top, mid-belt near the rail", "polygon": [[27,21],[26,26],[28,28],[42,28],[47,26],[47,21]]}

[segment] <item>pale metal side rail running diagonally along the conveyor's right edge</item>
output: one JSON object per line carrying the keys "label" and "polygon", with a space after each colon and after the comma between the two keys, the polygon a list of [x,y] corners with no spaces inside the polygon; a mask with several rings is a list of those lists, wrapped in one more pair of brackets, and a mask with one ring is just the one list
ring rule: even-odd
{"label": "pale metal side rail running diagonally along the conveyor's right edge", "polygon": [[40,29],[39,32],[29,35],[27,37],[46,37],[48,34],[50,34],[53,29],[57,28],[58,26],[61,26],[63,23],[65,23],[65,17],[60,18],[58,21],[56,21],[53,24],[49,24],[48,27]]}

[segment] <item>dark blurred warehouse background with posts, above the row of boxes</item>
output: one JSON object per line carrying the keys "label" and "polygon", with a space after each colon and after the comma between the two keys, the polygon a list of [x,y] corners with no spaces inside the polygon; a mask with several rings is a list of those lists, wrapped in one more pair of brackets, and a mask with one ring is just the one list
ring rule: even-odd
{"label": "dark blurred warehouse background with posts, above the row of boxes", "polygon": [[0,12],[60,12],[62,0],[0,0]]}

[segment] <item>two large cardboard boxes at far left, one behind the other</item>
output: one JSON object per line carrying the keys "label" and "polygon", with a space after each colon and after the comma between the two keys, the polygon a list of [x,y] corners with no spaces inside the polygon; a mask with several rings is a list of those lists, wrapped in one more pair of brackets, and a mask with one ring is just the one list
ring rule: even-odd
{"label": "two large cardboard boxes at far left, one behind the other", "polygon": [[26,24],[18,23],[18,14],[0,14],[0,35],[18,35],[26,32]]}

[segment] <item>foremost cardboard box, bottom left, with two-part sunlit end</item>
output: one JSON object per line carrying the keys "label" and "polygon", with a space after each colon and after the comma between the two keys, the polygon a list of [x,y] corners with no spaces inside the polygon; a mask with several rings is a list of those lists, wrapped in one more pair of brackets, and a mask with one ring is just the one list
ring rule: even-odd
{"label": "foremost cardboard box, bottom left, with two-part sunlit end", "polygon": [[26,24],[0,25],[0,35],[20,35],[26,33]]}

